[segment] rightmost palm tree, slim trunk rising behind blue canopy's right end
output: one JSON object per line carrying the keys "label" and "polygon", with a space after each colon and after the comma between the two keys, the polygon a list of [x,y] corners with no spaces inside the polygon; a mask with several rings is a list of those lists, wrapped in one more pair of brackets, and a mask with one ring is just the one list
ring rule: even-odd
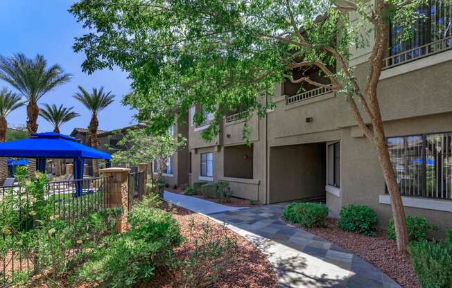
{"label": "rightmost palm tree, slim trunk rising behind blue canopy's right end", "polygon": [[[101,89],[93,88],[92,93],[89,93],[81,86],[78,86],[78,90],[80,91],[78,91],[73,98],[79,100],[91,112],[89,139],[91,147],[98,149],[99,141],[97,138],[97,128],[99,121],[97,115],[100,111],[114,102],[114,95],[112,94],[112,91],[104,92],[103,87],[101,87]],[[99,177],[99,163],[97,160],[93,160],[93,174],[94,177]]]}

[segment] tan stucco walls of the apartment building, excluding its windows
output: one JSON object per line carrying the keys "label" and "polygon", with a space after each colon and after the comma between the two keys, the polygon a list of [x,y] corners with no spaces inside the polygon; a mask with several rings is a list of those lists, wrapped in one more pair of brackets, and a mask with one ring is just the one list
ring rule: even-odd
{"label": "tan stucco walls of the apartment building, excluding its windows", "polygon": [[[378,93],[386,136],[452,131],[452,78],[446,77],[452,71],[449,52],[383,71]],[[368,68],[363,59],[368,51],[356,53],[350,64],[356,64],[356,75],[363,86]],[[429,62],[430,57],[435,57],[434,61]],[[379,226],[386,228],[392,213],[390,205],[381,201],[385,183],[376,152],[360,132],[345,98],[324,93],[288,105],[282,86],[275,87],[275,109],[263,118],[253,115],[247,121],[252,128],[253,178],[225,177],[224,147],[243,145],[244,120],[224,120],[220,134],[210,142],[200,138],[199,128],[189,127],[190,182],[205,181],[200,177],[200,153],[214,152],[214,177],[210,180],[229,181],[236,197],[270,204],[324,195],[331,215],[338,216],[347,204],[367,205],[379,215]],[[340,143],[340,188],[327,185],[325,165],[311,165],[326,158],[315,147],[335,142]],[[303,174],[310,174],[311,179],[300,177]],[[306,188],[300,189],[302,186]],[[407,201],[406,213],[426,217],[440,227],[437,235],[444,235],[444,230],[452,227],[452,213],[447,211],[449,206],[452,209],[452,200],[438,201],[446,208],[414,208]]]}

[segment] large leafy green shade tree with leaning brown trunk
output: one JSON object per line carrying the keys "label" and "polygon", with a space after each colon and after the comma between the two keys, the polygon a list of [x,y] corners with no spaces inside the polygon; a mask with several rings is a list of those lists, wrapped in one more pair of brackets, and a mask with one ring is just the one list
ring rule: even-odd
{"label": "large leafy green shade tree with leaning brown trunk", "polygon": [[[388,51],[389,24],[400,41],[422,17],[425,0],[79,0],[71,12],[85,28],[76,39],[89,73],[117,65],[128,71],[134,93],[124,102],[151,131],[171,125],[175,109],[200,105],[214,113],[202,132],[216,134],[225,111],[241,107],[260,116],[272,105],[275,84],[307,82],[345,96],[350,113],[378,155],[392,201],[397,244],[408,244],[399,186],[390,162],[377,87]],[[356,20],[356,21],[355,21]],[[370,33],[374,31],[374,33]],[[364,84],[349,66],[349,48],[374,43]],[[327,84],[293,69],[315,66]],[[335,69],[332,69],[334,67]],[[259,96],[263,95],[263,98]],[[182,116],[182,114],[180,115]],[[196,112],[196,124],[205,114]]]}

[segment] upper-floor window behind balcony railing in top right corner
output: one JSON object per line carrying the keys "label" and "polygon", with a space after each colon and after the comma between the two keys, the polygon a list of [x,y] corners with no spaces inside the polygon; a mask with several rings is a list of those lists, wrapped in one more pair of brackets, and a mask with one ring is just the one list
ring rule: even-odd
{"label": "upper-floor window behind balcony railing in top right corner", "polygon": [[[399,57],[394,57],[392,64],[405,62],[451,46],[451,39],[446,39],[452,35],[451,1],[428,0],[428,5],[418,8],[417,13],[423,17],[415,23],[412,28],[412,37],[408,41],[399,41],[398,37],[402,31],[400,26],[392,25],[390,28],[390,55],[407,51]],[[446,41],[424,46],[441,39]],[[415,49],[418,47],[421,48]]]}

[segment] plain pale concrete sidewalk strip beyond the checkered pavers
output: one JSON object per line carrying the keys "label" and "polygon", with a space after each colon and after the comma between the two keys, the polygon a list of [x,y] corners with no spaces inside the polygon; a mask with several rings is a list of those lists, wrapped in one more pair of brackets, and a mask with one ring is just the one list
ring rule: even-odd
{"label": "plain pale concrete sidewalk strip beyond the checkered pavers", "polygon": [[165,191],[163,199],[169,203],[186,208],[196,213],[211,214],[239,210],[241,208],[218,204],[205,199],[180,195]]}

